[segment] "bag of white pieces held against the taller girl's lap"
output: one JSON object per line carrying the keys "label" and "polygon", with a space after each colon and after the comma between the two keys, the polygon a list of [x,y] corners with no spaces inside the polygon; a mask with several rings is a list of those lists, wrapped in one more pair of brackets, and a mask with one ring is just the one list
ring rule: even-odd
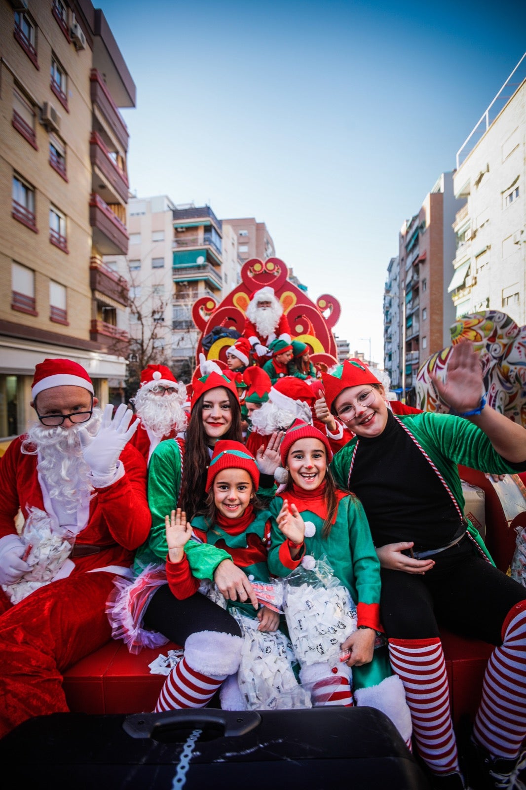
{"label": "bag of white pieces held against the taller girl's lap", "polygon": [[356,630],[356,607],[325,556],[311,559],[314,563],[299,565],[284,579],[288,632],[302,667],[320,662],[336,667],[342,642]]}

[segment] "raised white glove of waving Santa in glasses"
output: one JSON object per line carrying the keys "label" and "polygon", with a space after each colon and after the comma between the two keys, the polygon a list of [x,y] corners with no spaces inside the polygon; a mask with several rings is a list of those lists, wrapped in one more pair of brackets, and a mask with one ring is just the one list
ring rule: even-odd
{"label": "raised white glove of waving Santa in glasses", "polygon": [[133,412],[125,403],[119,405],[114,419],[112,412],[113,406],[107,404],[96,436],[91,436],[87,428],[78,432],[82,455],[95,477],[115,476],[118,457],[139,427],[138,419],[130,427]]}

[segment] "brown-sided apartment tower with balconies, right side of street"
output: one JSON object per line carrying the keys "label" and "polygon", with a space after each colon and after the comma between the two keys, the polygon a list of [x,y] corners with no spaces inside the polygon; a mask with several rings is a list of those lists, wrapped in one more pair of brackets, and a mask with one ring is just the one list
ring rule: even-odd
{"label": "brown-sided apartment tower with balconies, right side of street", "polygon": [[460,205],[461,198],[453,195],[453,173],[442,173],[400,230],[400,371],[406,389],[415,385],[419,366],[451,341],[454,310],[447,289]]}

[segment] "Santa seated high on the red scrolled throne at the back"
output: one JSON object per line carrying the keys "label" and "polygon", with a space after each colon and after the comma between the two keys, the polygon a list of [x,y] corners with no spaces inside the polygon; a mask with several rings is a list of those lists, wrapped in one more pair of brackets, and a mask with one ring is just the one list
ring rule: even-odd
{"label": "Santa seated high on the red scrolled throne at the back", "polygon": [[265,286],[254,293],[246,308],[243,337],[247,338],[261,362],[269,358],[272,340],[277,338],[291,342],[291,329],[273,288]]}

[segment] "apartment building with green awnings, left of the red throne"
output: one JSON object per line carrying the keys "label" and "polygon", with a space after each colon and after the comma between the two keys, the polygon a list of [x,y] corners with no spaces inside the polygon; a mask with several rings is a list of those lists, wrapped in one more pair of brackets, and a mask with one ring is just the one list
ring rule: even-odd
{"label": "apartment building with green awnings, left of the red throne", "polygon": [[172,363],[189,378],[195,366],[199,332],[192,321],[197,299],[223,293],[223,224],[209,205],[177,205],[173,216],[174,321]]}

